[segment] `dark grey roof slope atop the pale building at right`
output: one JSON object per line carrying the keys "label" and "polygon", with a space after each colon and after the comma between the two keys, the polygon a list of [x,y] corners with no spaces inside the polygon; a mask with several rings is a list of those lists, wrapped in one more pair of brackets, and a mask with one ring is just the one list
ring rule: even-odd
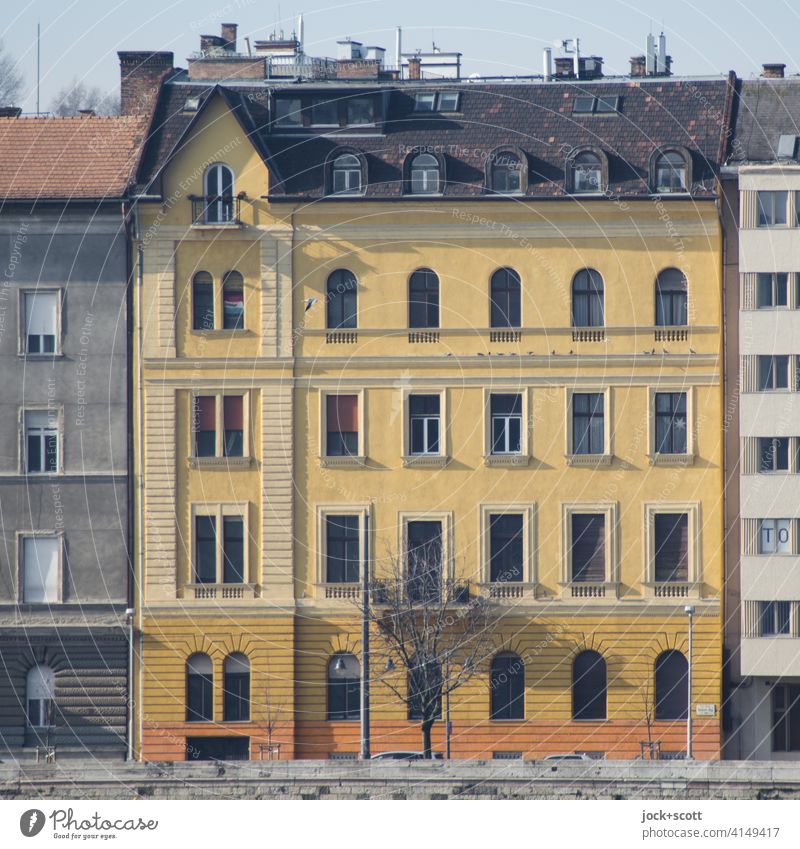
{"label": "dark grey roof slope atop the pale building at right", "polygon": [[736,97],[731,162],[772,162],[782,135],[800,135],[800,79],[745,80]]}

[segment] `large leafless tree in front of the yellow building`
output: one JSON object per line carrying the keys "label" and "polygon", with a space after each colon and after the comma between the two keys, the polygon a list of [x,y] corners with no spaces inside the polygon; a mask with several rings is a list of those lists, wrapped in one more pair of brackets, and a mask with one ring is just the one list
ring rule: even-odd
{"label": "large leafless tree in front of the yellow building", "polygon": [[[424,756],[431,758],[431,731],[442,701],[467,683],[496,648],[497,608],[472,595],[442,570],[441,543],[388,555],[382,579],[372,583],[364,609],[376,635],[373,659],[390,673],[382,681],[417,719]],[[405,681],[402,681],[402,673]]]}

